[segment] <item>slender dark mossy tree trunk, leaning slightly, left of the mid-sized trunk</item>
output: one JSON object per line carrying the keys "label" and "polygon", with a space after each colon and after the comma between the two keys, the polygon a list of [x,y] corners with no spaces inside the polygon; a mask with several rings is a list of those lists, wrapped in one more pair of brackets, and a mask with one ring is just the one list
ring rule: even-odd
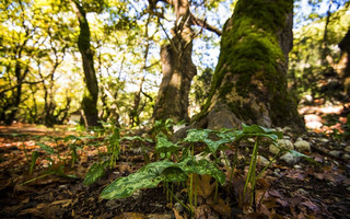
{"label": "slender dark mossy tree trunk, leaning slightly, left of the mid-sized trunk", "polygon": [[94,69],[93,51],[90,46],[90,27],[86,20],[86,12],[80,5],[79,1],[71,0],[72,8],[78,16],[80,24],[80,34],[78,39],[79,51],[83,61],[85,91],[82,100],[82,110],[85,116],[85,125],[97,126],[97,97],[98,97],[98,84],[96,73]]}

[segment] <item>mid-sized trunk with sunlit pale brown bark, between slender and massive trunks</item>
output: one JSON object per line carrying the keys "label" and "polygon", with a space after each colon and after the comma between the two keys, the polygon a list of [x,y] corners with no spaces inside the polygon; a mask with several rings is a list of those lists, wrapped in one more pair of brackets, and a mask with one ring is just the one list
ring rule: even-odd
{"label": "mid-sized trunk with sunlit pale brown bark, between slender and massive trunks", "polygon": [[188,122],[188,93],[190,82],[197,73],[191,60],[194,32],[190,28],[188,1],[175,0],[172,4],[176,22],[172,30],[171,43],[161,48],[163,78],[154,105],[153,119],[172,118],[175,122]]}

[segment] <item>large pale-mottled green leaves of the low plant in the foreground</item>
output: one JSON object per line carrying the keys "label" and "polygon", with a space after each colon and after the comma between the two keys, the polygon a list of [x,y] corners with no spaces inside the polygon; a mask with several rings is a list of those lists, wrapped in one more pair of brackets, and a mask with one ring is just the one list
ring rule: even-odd
{"label": "large pale-mottled green leaves of the low plant in the foreground", "polygon": [[[221,139],[217,141],[211,140],[209,138],[210,132],[217,134],[217,136],[221,137]],[[282,137],[281,132],[257,125],[243,125],[243,130],[222,129],[221,131],[213,131],[209,129],[190,129],[188,130],[188,135],[183,142],[205,142],[209,149],[208,153],[215,155],[218,149],[224,149],[224,147],[220,146],[226,142],[241,141],[252,137],[256,137],[257,140],[254,147],[245,187],[247,188],[247,185],[250,183],[254,188],[255,182],[258,178],[255,175],[255,171],[259,140],[261,138],[269,138],[272,141],[277,141],[278,138]],[[180,147],[168,141],[164,134],[161,134],[156,137],[158,152],[175,153],[179,149]],[[101,197],[106,199],[129,197],[137,189],[152,188],[158,186],[161,182],[183,182],[188,177],[191,178],[191,174],[194,173],[199,175],[209,174],[221,184],[225,182],[224,173],[218,169],[215,163],[209,162],[205,159],[197,161],[192,153],[191,154],[183,153],[183,158],[178,159],[179,162],[177,163],[168,160],[170,155],[166,157],[166,160],[149,163],[136,173],[132,173],[126,177],[117,178],[102,192]],[[192,183],[192,181],[190,182]],[[192,188],[192,185],[190,185],[190,188]],[[191,193],[191,189],[189,191],[189,193]],[[189,196],[191,196],[191,194]]]}

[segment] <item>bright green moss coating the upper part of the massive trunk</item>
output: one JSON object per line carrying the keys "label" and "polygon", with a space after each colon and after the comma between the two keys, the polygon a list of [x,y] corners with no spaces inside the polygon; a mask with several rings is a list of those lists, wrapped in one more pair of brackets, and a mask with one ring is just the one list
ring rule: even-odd
{"label": "bright green moss coating the upper part of the massive trunk", "polygon": [[241,95],[250,89],[252,77],[260,71],[264,74],[256,80],[261,80],[271,91],[278,90],[278,85],[271,84],[271,81],[279,74],[277,65],[278,61],[284,61],[284,55],[276,32],[284,27],[285,14],[292,7],[293,2],[287,0],[238,1],[233,16],[225,24],[221,54],[205,108],[218,88],[220,96],[231,92],[230,84],[221,85],[228,72],[238,76],[234,85]]}

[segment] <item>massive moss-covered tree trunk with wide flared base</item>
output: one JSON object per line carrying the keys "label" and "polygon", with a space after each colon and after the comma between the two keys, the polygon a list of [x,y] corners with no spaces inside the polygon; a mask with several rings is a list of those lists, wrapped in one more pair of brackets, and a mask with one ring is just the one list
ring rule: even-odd
{"label": "massive moss-covered tree trunk with wide flared base", "polygon": [[304,130],[287,91],[292,48],[292,0],[240,0],[226,22],[210,95],[197,126],[235,128],[241,123]]}

